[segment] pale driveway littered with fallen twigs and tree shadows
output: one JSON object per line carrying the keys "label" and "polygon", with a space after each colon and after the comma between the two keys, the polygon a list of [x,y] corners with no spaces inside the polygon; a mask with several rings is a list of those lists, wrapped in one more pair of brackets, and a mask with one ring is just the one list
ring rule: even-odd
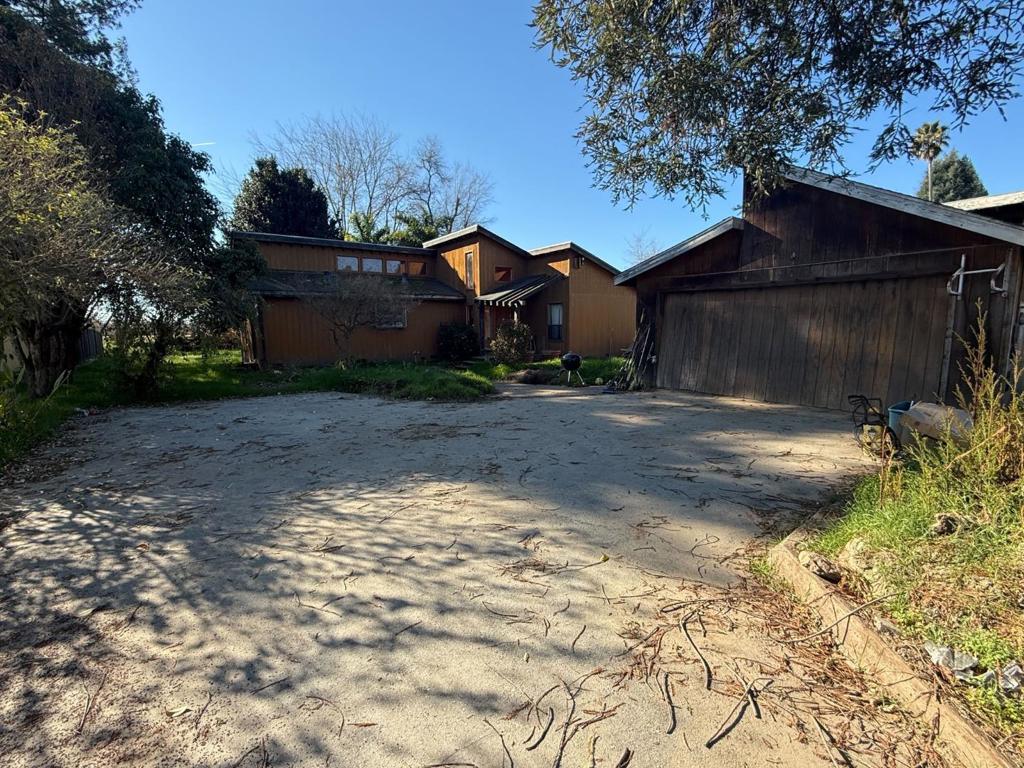
{"label": "pale driveway littered with fallen twigs and tree shadows", "polygon": [[833,764],[735,596],[864,467],[840,415],[295,395],[83,418],[40,461],[0,490],[6,765]]}

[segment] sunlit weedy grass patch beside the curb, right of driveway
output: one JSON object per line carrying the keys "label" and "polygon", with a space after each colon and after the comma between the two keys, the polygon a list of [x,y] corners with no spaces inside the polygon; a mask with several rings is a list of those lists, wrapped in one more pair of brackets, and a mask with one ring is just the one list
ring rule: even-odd
{"label": "sunlit weedy grass patch beside the curb, right of driveway", "polygon": [[[997,673],[1024,664],[1024,396],[980,371],[973,389],[967,444],[929,441],[862,479],[810,546],[835,556],[856,540],[871,563],[852,585],[861,597],[895,593],[890,617],[915,644],[953,646]],[[955,689],[992,727],[1024,739],[1024,696]]]}

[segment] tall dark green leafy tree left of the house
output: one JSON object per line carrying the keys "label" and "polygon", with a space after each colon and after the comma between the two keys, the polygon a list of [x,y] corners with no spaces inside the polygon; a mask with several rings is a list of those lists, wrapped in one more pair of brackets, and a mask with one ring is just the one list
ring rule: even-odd
{"label": "tall dark green leafy tree left of the house", "polygon": [[[160,102],[137,89],[134,74],[105,36],[135,5],[134,0],[0,0],[0,89],[19,99],[15,111],[29,124],[45,120],[77,138],[90,188],[109,203],[97,210],[118,212],[97,222],[96,231],[108,238],[135,233],[137,247],[119,251],[126,258],[135,254],[133,269],[144,270],[148,244],[160,244],[166,269],[189,275],[172,290],[163,280],[105,279],[83,268],[75,272],[85,281],[82,295],[57,290],[51,281],[34,332],[19,337],[25,354],[41,360],[40,370],[47,372],[74,367],[87,313],[102,301],[123,324],[145,322],[136,342],[144,341],[147,350],[141,351],[156,357],[139,368],[153,381],[146,372],[159,368],[163,351],[176,339],[200,332],[204,323],[228,322],[240,302],[251,305],[245,282],[262,268],[258,254],[215,245],[219,212],[203,182],[209,158],[167,132]],[[189,290],[178,290],[181,285]],[[38,393],[45,387],[33,388]]]}

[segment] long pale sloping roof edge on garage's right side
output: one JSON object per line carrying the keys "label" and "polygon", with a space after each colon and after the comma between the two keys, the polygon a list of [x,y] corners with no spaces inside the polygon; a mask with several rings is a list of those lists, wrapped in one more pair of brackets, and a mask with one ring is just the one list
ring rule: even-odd
{"label": "long pale sloping roof edge on garage's right side", "polygon": [[880,186],[871,186],[861,181],[852,181],[847,178],[829,176],[826,173],[812,171],[809,168],[793,168],[783,176],[791,181],[801,184],[816,186],[819,189],[845,195],[848,198],[872,203],[874,205],[891,208],[896,211],[908,213],[911,216],[937,221],[940,224],[955,226],[959,229],[985,234],[995,240],[1006,243],[1014,243],[1024,246],[1024,227],[1016,224],[1008,224],[996,221],[986,216],[976,213],[969,213],[958,208],[943,205],[942,203],[931,203],[912,195],[903,195],[892,189],[883,189]]}

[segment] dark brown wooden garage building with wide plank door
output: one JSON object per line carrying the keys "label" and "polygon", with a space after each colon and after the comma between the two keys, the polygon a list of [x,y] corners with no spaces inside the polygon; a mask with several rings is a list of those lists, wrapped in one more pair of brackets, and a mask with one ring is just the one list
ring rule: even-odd
{"label": "dark brown wooden garage building with wide plank door", "polygon": [[627,269],[659,387],[828,409],[949,401],[979,307],[1001,369],[1021,338],[1024,227],[793,169],[763,199]]}

